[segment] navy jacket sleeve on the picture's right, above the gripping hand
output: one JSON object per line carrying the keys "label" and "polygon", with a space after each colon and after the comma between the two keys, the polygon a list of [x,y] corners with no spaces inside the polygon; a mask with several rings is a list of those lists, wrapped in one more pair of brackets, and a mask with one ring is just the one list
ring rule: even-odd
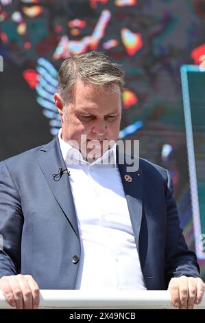
{"label": "navy jacket sleeve on the picture's right, above the gripping hand", "polygon": [[184,240],[180,220],[173,199],[172,181],[167,171],[165,197],[167,204],[167,242],[165,250],[165,280],[167,285],[172,277],[200,277],[200,268],[194,252],[191,252]]}

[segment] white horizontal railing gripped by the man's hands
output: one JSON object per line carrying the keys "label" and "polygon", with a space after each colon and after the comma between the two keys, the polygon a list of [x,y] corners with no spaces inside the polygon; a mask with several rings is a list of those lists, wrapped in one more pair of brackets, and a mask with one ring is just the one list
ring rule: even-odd
{"label": "white horizontal railing gripped by the man's hands", "polygon": [[[40,309],[174,309],[169,291],[41,290]],[[205,295],[195,309],[205,309]],[[0,309],[12,309],[0,291]]]}

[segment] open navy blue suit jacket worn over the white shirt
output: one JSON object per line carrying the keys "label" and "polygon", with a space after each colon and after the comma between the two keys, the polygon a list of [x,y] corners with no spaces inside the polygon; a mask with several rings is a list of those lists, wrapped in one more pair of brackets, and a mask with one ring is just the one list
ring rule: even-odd
{"label": "open navy blue suit jacket worn over the white shirt", "polygon": [[[117,160],[118,156],[117,156]],[[0,163],[0,278],[30,274],[40,289],[75,289],[80,236],[69,177],[58,138]],[[140,159],[137,172],[119,164],[134,238],[147,289],[167,289],[171,277],[198,277],[164,168]],[[109,266],[109,264],[107,264]],[[95,266],[95,255],[93,255]]]}

